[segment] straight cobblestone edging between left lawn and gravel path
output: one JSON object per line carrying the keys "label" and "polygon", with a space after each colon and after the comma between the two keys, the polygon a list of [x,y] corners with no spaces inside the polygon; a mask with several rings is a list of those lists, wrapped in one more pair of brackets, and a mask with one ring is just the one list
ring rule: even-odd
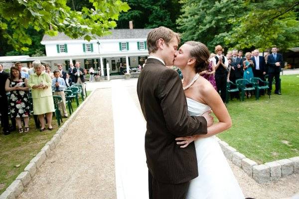
{"label": "straight cobblestone edging between left lawn and gravel path", "polygon": [[63,123],[63,125],[53,135],[52,139],[48,141],[40,152],[32,158],[29,164],[25,167],[24,171],[20,173],[15,181],[13,181],[9,187],[0,195],[0,199],[15,199],[23,191],[23,189],[29,184],[33,176],[44,161],[49,157],[50,152],[53,151],[59,144],[62,136],[67,132],[70,123],[74,120],[77,113],[84,107],[85,103],[90,99],[91,94],[79,105],[79,107],[71,114],[71,116]]}

